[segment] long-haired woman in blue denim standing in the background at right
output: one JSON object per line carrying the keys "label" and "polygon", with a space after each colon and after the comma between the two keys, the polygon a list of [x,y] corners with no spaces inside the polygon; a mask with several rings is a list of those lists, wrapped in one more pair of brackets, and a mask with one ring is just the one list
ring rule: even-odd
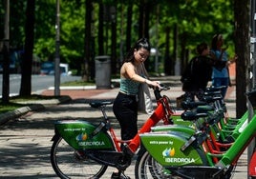
{"label": "long-haired woman in blue denim standing in the background at right", "polygon": [[224,87],[222,89],[223,98],[225,96],[227,87],[230,85],[228,65],[236,60],[236,56],[228,60],[228,54],[223,48],[224,38],[222,34],[215,34],[212,38],[210,55],[215,60],[215,66],[212,70],[212,86]]}

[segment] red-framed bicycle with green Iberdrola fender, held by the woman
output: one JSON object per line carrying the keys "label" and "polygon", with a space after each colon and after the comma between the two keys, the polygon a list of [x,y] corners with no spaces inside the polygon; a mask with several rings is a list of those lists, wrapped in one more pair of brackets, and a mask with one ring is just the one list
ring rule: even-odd
{"label": "red-framed bicycle with green Iberdrola fender, held by the woman", "polygon": [[130,166],[133,155],[139,149],[139,133],[150,131],[160,120],[165,125],[171,123],[169,118],[173,111],[169,107],[169,98],[160,94],[167,89],[154,89],[157,108],[138,134],[129,141],[118,139],[111,127],[105,108],[112,101],[90,103],[91,107],[102,111],[103,121],[98,126],[82,120],[55,122],[51,149],[55,173],[60,178],[100,178],[109,166],[123,172]]}

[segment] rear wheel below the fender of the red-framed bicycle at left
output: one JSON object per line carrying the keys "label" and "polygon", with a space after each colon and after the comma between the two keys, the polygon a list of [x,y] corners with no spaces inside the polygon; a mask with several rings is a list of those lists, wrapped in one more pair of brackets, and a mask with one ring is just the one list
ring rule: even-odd
{"label": "rear wheel below the fender of the red-framed bicycle at left", "polygon": [[60,178],[100,178],[108,166],[73,149],[62,137],[55,137],[51,149],[51,163]]}

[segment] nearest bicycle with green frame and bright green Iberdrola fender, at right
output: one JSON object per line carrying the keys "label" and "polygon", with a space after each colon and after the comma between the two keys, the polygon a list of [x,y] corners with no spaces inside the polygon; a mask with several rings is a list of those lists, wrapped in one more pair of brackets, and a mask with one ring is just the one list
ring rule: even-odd
{"label": "nearest bicycle with green frame and bright green Iberdrola fender, at right", "polygon": [[[256,89],[247,92],[248,99],[256,111]],[[139,134],[143,148],[139,150],[136,163],[136,178],[230,178],[232,170],[256,136],[256,114],[245,129],[224,153],[214,154],[203,149],[203,140],[186,146],[190,135],[179,131],[152,131]],[[253,154],[255,156],[255,153]],[[217,157],[217,163],[212,158]],[[255,166],[254,157],[250,166]]]}

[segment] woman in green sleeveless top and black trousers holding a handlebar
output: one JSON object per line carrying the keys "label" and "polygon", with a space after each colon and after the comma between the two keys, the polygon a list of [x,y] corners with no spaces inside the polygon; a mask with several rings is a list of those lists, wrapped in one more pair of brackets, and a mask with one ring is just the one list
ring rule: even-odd
{"label": "woman in green sleeveless top and black trousers holding a handlebar", "polygon": [[[130,140],[138,133],[138,90],[140,83],[159,87],[157,81],[150,81],[141,74],[142,63],[150,54],[150,44],[141,38],[128,51],[120,69],[120,89],[113,105],[114,114],[120,124],[121,139]],[[127,178],[120,172],[114,172],[111,178]]]}

